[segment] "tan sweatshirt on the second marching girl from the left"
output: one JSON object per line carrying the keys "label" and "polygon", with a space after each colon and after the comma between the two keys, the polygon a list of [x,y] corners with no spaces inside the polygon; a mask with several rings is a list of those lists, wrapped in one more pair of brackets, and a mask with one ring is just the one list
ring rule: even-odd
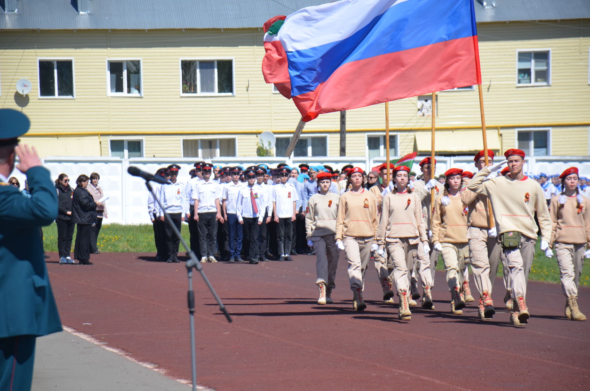
{"label": "tan sweatshirt on the second marching girl from the left", "polygon": [[377,200],[371,191],[363,189],[362,193],[353,193],[349,190],[340,196],[336,240],[342,240],[343,236],[375,236],[378,226]]}

